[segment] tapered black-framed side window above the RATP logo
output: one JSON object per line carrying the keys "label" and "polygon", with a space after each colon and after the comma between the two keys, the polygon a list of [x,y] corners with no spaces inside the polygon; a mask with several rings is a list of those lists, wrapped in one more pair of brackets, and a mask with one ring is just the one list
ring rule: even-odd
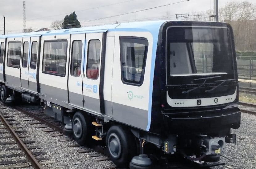
{"label": "tapered black-framed side window above the RATP logo", "polygon": [[120,37],[121,78],[125,84],[141,86],[148,50],[146,38]]}

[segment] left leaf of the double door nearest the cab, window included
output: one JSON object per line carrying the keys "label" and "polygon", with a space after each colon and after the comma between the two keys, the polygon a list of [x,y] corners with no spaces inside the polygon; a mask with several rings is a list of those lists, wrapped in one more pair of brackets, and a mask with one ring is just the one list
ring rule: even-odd
{"label": "left leaf of the double door nearest the cab, window included", "polygon": [[68,73],[69,103],[84,108],[83,75],[85,56],[85,34],[71,35],[70,66]]}

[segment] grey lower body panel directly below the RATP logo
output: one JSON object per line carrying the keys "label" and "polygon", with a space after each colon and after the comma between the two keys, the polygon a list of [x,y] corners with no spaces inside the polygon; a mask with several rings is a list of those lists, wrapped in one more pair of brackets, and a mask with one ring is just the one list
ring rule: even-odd
{"label": "grey lower body panel directly below the RATP logo", "polygon": [[142,130],[147,129],[148,111],[118,103],[112,103],[112,105],[113,118],[115,121],[125,123]]}

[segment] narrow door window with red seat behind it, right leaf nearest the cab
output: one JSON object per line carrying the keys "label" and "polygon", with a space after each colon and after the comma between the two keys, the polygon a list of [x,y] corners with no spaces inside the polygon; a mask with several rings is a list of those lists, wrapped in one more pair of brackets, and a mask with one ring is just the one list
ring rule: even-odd
{"label": "narrow door window with red seat behind it, right leaf nearest the cab", "polygon": [[97,79],[100,67],[101,42],[100,40],[90,40],[88,43],[88,56],[86,77]]}

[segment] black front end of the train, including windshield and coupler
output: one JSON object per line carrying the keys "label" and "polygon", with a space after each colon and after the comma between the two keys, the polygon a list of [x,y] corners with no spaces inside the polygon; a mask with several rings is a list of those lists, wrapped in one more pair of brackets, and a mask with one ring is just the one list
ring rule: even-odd
{"label": "black front end of the train, including windshield and coupler", "polygon": [[225,143],[236,141],[230,128],[240,127],[237,103],[231,26],[165,22],[159,32],[150,128],[160,133],[162,150],[218,162]]}

